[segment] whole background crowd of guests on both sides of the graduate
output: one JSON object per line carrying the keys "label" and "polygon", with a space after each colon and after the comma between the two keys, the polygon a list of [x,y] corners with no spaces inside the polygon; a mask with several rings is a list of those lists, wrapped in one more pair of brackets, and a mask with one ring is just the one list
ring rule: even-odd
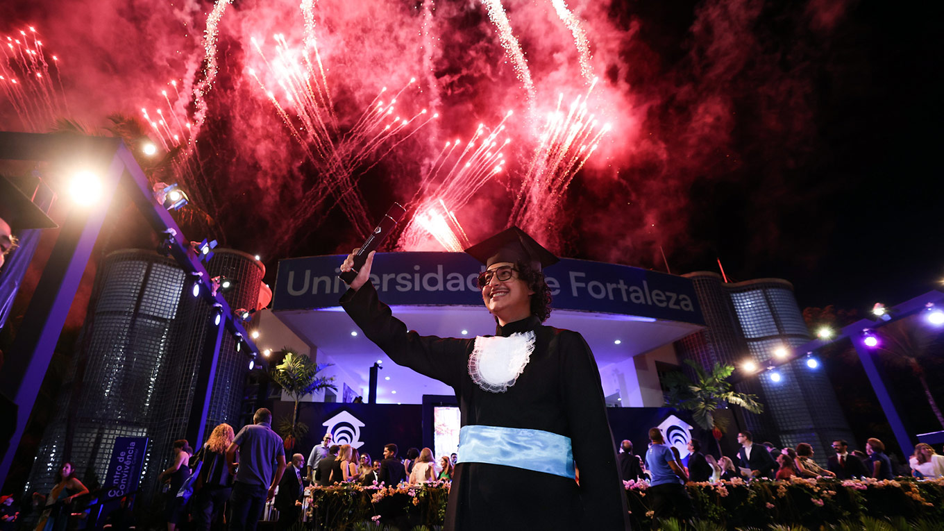
{"label": "whole background crowd of guests on both sides of the graduate", "polygon": [[[294,454],[286,462],[282,438],[272,430],[271,420],[271,413],[261,408],[254,423],[238,434],[228,424],[220,424],[198,452],[186,440],[173,443],[168,468],[160,472],[160,481],[167,486],[163,514],[168,531],[184,525],[200,530],[223,526],[255,529],[269,501],[278,510],[277,528],[289,529],[301,519],[306,488],[451,480],[457,462],[457,454],[437,459],[429,448],[410,448],[400,458],[394,443],[384,445],[382,458],[373,459],[350,444],[332,444],[330,433],[312,448],[307,459]],[[699,440],[691,439],[688,458],[683,461],[679,450],[666,444],[658,428],[652,428],[645,455],[634,454],[632,442],[623,440],[617,463],[624,481],[648,482],[647,496],[656,519],[695,516],[683,487],[688,482],[794,476],[892,479],[904,475],[900,473],[904,469],[897,470],[885,454],[882,441],[874,437],[867,439],[865,452],[852,450],[846,440],[834,440],[834,453],[825,467],[814,460],[813,446],[805,442],[796,448],[777,449],[769,442],[755,443],[748,431],[740,432],[737,440],[741,446],[733,457],[716,457],[703,452]],[[919,443],[909,458],[909,468],[918,478],[944,477],[944,455]],[[65,529],[76,508],[74,501],[88,493],[76,478],[75,466],[63,463],[49,495],[34,495],[34,505],[42,511],[36,530]],[[0,528],[14,528],[19,516],[11,496],[0,498]]]}

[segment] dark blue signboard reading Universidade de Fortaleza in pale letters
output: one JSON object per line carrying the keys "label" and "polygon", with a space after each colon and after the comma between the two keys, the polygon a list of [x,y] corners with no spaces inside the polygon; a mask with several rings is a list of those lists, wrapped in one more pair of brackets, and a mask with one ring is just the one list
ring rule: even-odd
{"label": "dark blue signboard reading Universidade de Fortaleza in pale letters", "polygon": [[[305,310],[338,305],[347,286],[337,277],[344,256],[282,260],[273,309]],[[390,305],[482,303],[476,278],[484,269],[461,252],[377,254],[371,282]],[[562,259],[545,268],[551,307],[704,324],[695,287],[684,277],[639,267]]]}

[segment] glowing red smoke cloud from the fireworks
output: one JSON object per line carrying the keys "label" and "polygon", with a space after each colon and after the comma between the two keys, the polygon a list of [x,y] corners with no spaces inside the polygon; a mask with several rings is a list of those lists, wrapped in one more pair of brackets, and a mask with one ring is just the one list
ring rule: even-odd
{"label": "glowing red smoke cloud from the fireworks", "polygon": [[[3,79],[0,118],[42,130],[63,115],[142,116],[155,143],[181,147],[181,183],[198,191],[192,197],[229,243],[270,255],[349,248],[398,199],[414,216],[443,221],[425,223],[441,232],[430,236],[437,241],[518,223],[551,248],[647,263],[656,243],[671,254],[673,242],[686,242],[692,183],[739,167],[736,111],[760,117],[748,133],[770,146],[759,159],[783,160],[780,152],[810,143],[803,96],[814,73],[794,59],[807,57],[808,44],[764,45],[756,0],[712,0],[671,21],[619,0],[230,4],[65,0],[43,14],[8,4],[0,20],[41,28],[44,48],[63,51],[67,68],[60,86],[48,52],[33,58],[45,67],[31,54],[5,55],[6,68],[34,69],[48,85],[16,93]],[[790,20],[829,31],[837,23],[822,22],[824,5],[829,21],[841,20],[841,7],[822,0]],[[388,94],[404,87],[394,104]],[[461,171],[474,151],[447,142],[479,124],[497,128],[508,110],[500,171],[486,163],[497,150]],[[317,231],[344,221],[349,230]],[[430,241],[417,223],[401,248]],[[317,241],[299,241],[311,231]],[[598,240],[616,243],[594,255]]]}

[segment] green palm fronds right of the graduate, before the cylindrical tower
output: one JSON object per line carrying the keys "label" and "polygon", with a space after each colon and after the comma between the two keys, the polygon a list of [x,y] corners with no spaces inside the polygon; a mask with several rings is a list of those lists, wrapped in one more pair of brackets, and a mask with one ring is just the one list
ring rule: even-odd
{"label": "green palm fronds right of the graduate, before the cylindrical tower", "polygon": [[716,363],[711,372],[706,372],[692,360],[685,360],[685,363],[695,370],[696,378],[693,381],[678,371],[668,373],[666,403],[691,411],[692,419],[703,429],[725,431],[727,423],[715,417],[715,411],[723,405],[739,405],[751,413],[764,412],[764,405],[757,402],[755,395],[733,391],[727,381],[734,371],[732,366]]}

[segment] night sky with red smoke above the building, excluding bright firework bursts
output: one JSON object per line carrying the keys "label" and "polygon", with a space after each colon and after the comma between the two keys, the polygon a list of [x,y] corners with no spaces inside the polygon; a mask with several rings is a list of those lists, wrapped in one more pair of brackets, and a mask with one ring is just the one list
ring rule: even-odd
{"label": "night sky with red smoke above the building, excluding bright firework bursts", "polygon": [[[562,194],[539,189],[517,215],[543,117],[558,94],[566,107],[589,84],[577,40],[549,0],[504,3],[528,60],[531,99],[480,3],[315,4],[335,147],[383,86],[393,92],[410,77],[417,81],[396,112],[428,109],[416,123],[440,113],[350,163],[334,185],[337,166],[287,132],[265,94],[280,94],[278,69],[267,70],[250,41],[260,39],[270,60],[276,32],[300,49],[297,4],[228,7],[218,74],[201,108],[193,90],[211,76],[202,40],[211,3],[4,2],[0,36],[34,26],[43,53],[59,58],[50,71],[59,77],[47,81],[58,94],[48,105],[30,103],[40,93],[26,85],[14,95],[4,80],[0,124],[42,131],[68,116],[100,128],[111,113],[140,118],[142,108],[196,124],[205,113],[196,148],[178,160],[186,169],[158,177],[192,191],[221,228],[213,236],[261,254],[270,283],[279,258],[355,247],[359,223],[373,224],[391,200],[415,213],[436,197],[435,186],[418,191],[443,143],[467,139],[480,123],[496,127],[508,110],[504,168],[450,204],[473,242],[516,222],[573,258],[664,270],[664,251],[673,273],[716,271],[720,258],[732,281],[784,278],[801,307],[860,313],[944,279],[944,46],[921,10],[850,0],[568,3],[599,77],[590,112],[612,130],[575,177],[565,176]],[[2,59],[7,77],[22,74],[21,59]],[[362,220],[348,221],[352,213]],[[403,236],[399,248],[436,248],[420,240]]]}

